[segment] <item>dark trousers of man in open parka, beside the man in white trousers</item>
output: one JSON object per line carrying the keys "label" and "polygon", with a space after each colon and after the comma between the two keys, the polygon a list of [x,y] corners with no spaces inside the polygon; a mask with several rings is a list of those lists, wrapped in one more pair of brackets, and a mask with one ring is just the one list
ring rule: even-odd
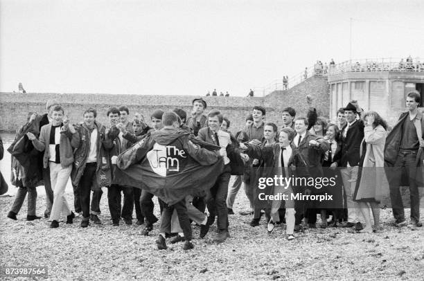
{"label": "dark trousers of man in open parka, beside the man in white trousers", "polygon": [[78,183],[78,195],[80,197],[83,220],[88,220],[90,217],[91,185],[93,185],[95,180],[96,168],[96,163],[87,163],[80,183]]}

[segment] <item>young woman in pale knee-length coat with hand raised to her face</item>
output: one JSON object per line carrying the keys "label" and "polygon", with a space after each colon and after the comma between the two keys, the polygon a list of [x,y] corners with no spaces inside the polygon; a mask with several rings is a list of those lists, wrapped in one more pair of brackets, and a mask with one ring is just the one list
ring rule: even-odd
{"label": "young woman in pale knee-length coat with hand raised to her face", "polygon": [[375,111],[369,111],[364,115],[366,121],[364,127],[364,139],[361,144],[360,170],[353,199],[358,201],[359,208],[365,219],[365,228],[361,233],[372,233],[371,217],[369,209],[373,212],[374,228],[380,224],[380,200],[382,198],[382,186],[386,176],[384,171],[384,149],[386,143],[387,124]]}

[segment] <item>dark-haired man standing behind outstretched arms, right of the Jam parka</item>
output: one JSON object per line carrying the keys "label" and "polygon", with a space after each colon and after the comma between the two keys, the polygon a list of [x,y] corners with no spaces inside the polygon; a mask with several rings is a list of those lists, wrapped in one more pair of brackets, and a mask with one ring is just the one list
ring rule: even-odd
{"label": "dark-haired man standing behind outstretched arms, right of the Jam parka", "polygon": [[[253,108],[253,112],[251,116],[253,117],[254,122],[250,125],[245,127],[243,129],[243,133],[238,136],[238,140],[241,140],[241,137],[246,138],[245,141],[253,141],[257,140],[262,142],[263,141],[263,127],[264,127],[264,119],[265,119],[265,108],[260,106],[255,106]],[[253,161],[253,159],[251,159]],[[245,192],[246,196],[249,199],[250,202],[250,208],[251,211],[248,212],[240,212],[240,215],[254,215],[254,218],[251,221],[251,226],[257,226],[258,225],[258,219],[260,219],[260,209],[256,208],[254,210],[254,192],[256,190],[256,187],[251,184],[250,179],[254,178],[254,172],[256,171],[256,168],[252,166],[252,161],[247,164],[247,167],[245,169],[245,174],[242,176],[242,181],[245,183]]]}

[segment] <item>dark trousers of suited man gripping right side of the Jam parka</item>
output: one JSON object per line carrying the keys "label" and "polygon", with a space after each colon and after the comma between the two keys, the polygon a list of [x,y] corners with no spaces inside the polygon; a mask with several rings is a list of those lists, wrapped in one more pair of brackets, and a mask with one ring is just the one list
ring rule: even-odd
{"label": "dark trousers of suited man gripping right side of the Jam parka", "polygon": [[231,174],[227,167],[224,172],[218,176],[218,179],[211,188],[211,199],[207,202],[208,210],[211,216],[218,215],[218,229],[228,230],[228,210],[227,210],[227,194],[228,184]]}

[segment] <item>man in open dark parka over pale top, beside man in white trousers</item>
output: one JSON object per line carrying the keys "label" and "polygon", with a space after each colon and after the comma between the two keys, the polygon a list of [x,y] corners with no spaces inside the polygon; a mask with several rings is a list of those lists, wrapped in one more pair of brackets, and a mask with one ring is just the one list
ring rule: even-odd
{"label": "man in open dark parka over pale top, beside man in white trousers", "polygon": [[[102,187],[99,186],[100,168],[102,165],[107,165],[107,160],[102,155],[107,155],[104,150],[113,147],[112,142],[105,138],[105,126],[98,123],[96,117],[96,109],[89,108],[84,112],[84,121],[76,126],[76,131],[80,136],[80,145],[74,152],[71,179],[72,184],[78,188],[82,208],[81,227],[83,228],[89,226],[91,187],[97,192]],[[96,201],[96,205],[98,205],[100,200],[94,198],[93,201]],[[94,209],[93,207],[96,206],[91,204],[91,209]],[[97,215],[92,215],[91,219],[95,224],[101,224]]]}

